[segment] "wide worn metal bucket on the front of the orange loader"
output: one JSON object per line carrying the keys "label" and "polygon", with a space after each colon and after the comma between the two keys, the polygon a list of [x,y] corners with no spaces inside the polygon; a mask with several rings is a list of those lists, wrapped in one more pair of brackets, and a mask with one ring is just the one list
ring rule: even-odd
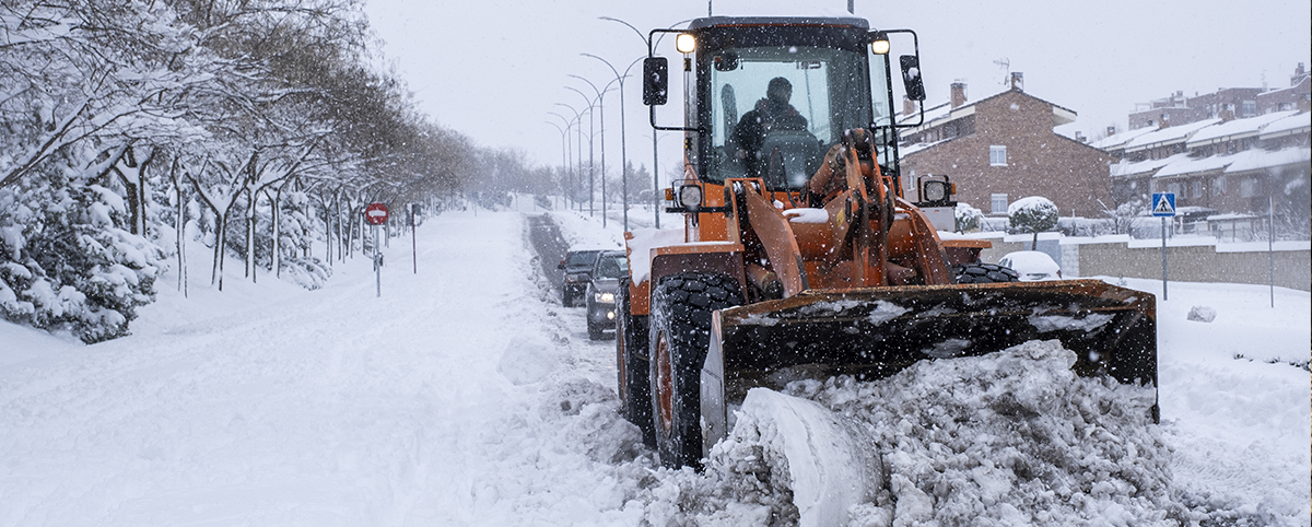
{"label": "wide worn metal bucket on the front of the orange loader", "polygon": [[718,311],[702,370],[706,444],[727,433],[726,401],[754,387],[875,379],[917,361],[1052,338],[1075,351],[1078,375],[1157,385],[1155,296],[1101,281],[804,291]]}

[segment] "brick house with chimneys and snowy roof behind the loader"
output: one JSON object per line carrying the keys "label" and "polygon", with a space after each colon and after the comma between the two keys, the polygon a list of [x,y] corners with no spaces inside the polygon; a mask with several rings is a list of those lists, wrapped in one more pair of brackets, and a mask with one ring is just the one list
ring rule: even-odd
{"label": "brick house with chimneys and snowy roof behind the loader", "polygon": [[[909,102],[909,101],[908,101]],[[903,122],[918,119],[907,105]],[[924,125],[901,134],[904,191],[914,197],[922,174],[946,174],[956,199],[988,215],[1006,215],[1013,201],[1042,195],[1063,216],[1097,216],[1111,205],[1109,165],[1117,157],[1052,131],[1076,113],[1023,90],[1021,73],[1002,93],[967,104],[966,85],[925,110]]]}

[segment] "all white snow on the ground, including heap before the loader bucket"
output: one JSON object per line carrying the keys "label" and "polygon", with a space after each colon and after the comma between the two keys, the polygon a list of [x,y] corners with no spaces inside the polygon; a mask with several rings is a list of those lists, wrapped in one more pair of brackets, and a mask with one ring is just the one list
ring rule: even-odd
{"label": "all white snow on the ground, including heap before the loader bucket", "polygon": [[[1170,283],[1160,426],[1035,341],[754,393],[697,475],[656,468],[617,416],[614,342],[559,305],[523,214],[430,219],[417,274],[394,239],[382,298],[357,256],[319,291],[230,265],[223,292],[182,298],[165,275],[134,334],[94,346],[0,322],[0,526],[789,524],[833,494],[778,455],[779,412],[816,405],[883,459],[854,524],[1309,524],[1307,292],[1271,309],[1266,287]],[[623,240],[552,218],[575,244]]]}

